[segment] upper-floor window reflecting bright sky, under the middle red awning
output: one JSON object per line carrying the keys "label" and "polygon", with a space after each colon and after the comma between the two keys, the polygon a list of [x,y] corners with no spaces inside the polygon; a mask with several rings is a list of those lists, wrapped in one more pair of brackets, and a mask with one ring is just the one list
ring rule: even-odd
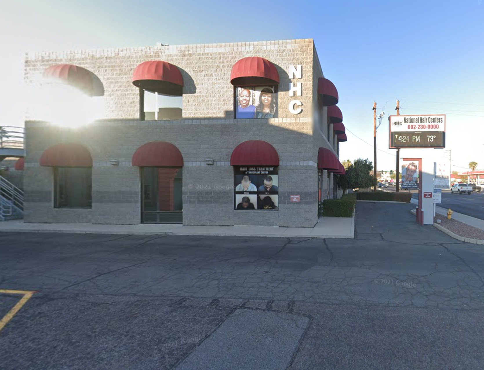
{"label": "upper-floor window reflecting bright sky, under the middle red awning", "polygon": [[165,95],[144,89],[140,89],[139,93],[142,94],[142,112],[145,121],[182,118],[182,96]]}

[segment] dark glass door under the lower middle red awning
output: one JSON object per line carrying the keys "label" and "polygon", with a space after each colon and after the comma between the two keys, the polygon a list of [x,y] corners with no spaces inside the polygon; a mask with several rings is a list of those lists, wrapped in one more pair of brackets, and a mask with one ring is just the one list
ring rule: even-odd
{"label": "dark glass door under the lower middle red awning", "polygon": [[141,168],[141,222],[182,223],[181,168]]}

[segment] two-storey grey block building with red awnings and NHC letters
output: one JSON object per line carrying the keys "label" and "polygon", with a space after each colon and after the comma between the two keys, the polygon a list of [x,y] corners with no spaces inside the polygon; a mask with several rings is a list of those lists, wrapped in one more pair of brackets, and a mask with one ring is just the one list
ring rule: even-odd
{"label": "two-storey grey block building with red awnings and NHC letters", "polygon": [[25,222],[313,227],[341,195],[312,39],[44,52],[25,78]]}

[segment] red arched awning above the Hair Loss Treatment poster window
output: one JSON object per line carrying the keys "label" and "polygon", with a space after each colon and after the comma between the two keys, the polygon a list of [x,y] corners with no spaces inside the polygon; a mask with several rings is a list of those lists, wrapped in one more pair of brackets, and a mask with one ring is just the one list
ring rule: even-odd
{"label": "red arched awning above the Hair Loss Treatment poster window", "polygon": [[231,166],[265,165],[278,166],[279,155],[266,141],[248,140],[239,144],[230,157]]}

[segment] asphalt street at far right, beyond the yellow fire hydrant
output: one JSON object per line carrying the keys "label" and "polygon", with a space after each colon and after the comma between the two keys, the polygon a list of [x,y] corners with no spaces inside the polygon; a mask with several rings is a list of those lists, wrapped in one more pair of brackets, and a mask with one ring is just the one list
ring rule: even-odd
{"label": "asphalt street at far right, beyond the yellow fire hydrant", "polygon": [[[385,188],[389,192],[394,192],[395,187]],[[408,192],[404,190],[403,192]],[[412,198],[418,199],[418,191],[412,190]],[[450,190],[442,190],[442,203],[438,204],[442,208],[451,208],[453,211],[484,220],[484,192],[473,192],[468,194],[451,194]]]}

